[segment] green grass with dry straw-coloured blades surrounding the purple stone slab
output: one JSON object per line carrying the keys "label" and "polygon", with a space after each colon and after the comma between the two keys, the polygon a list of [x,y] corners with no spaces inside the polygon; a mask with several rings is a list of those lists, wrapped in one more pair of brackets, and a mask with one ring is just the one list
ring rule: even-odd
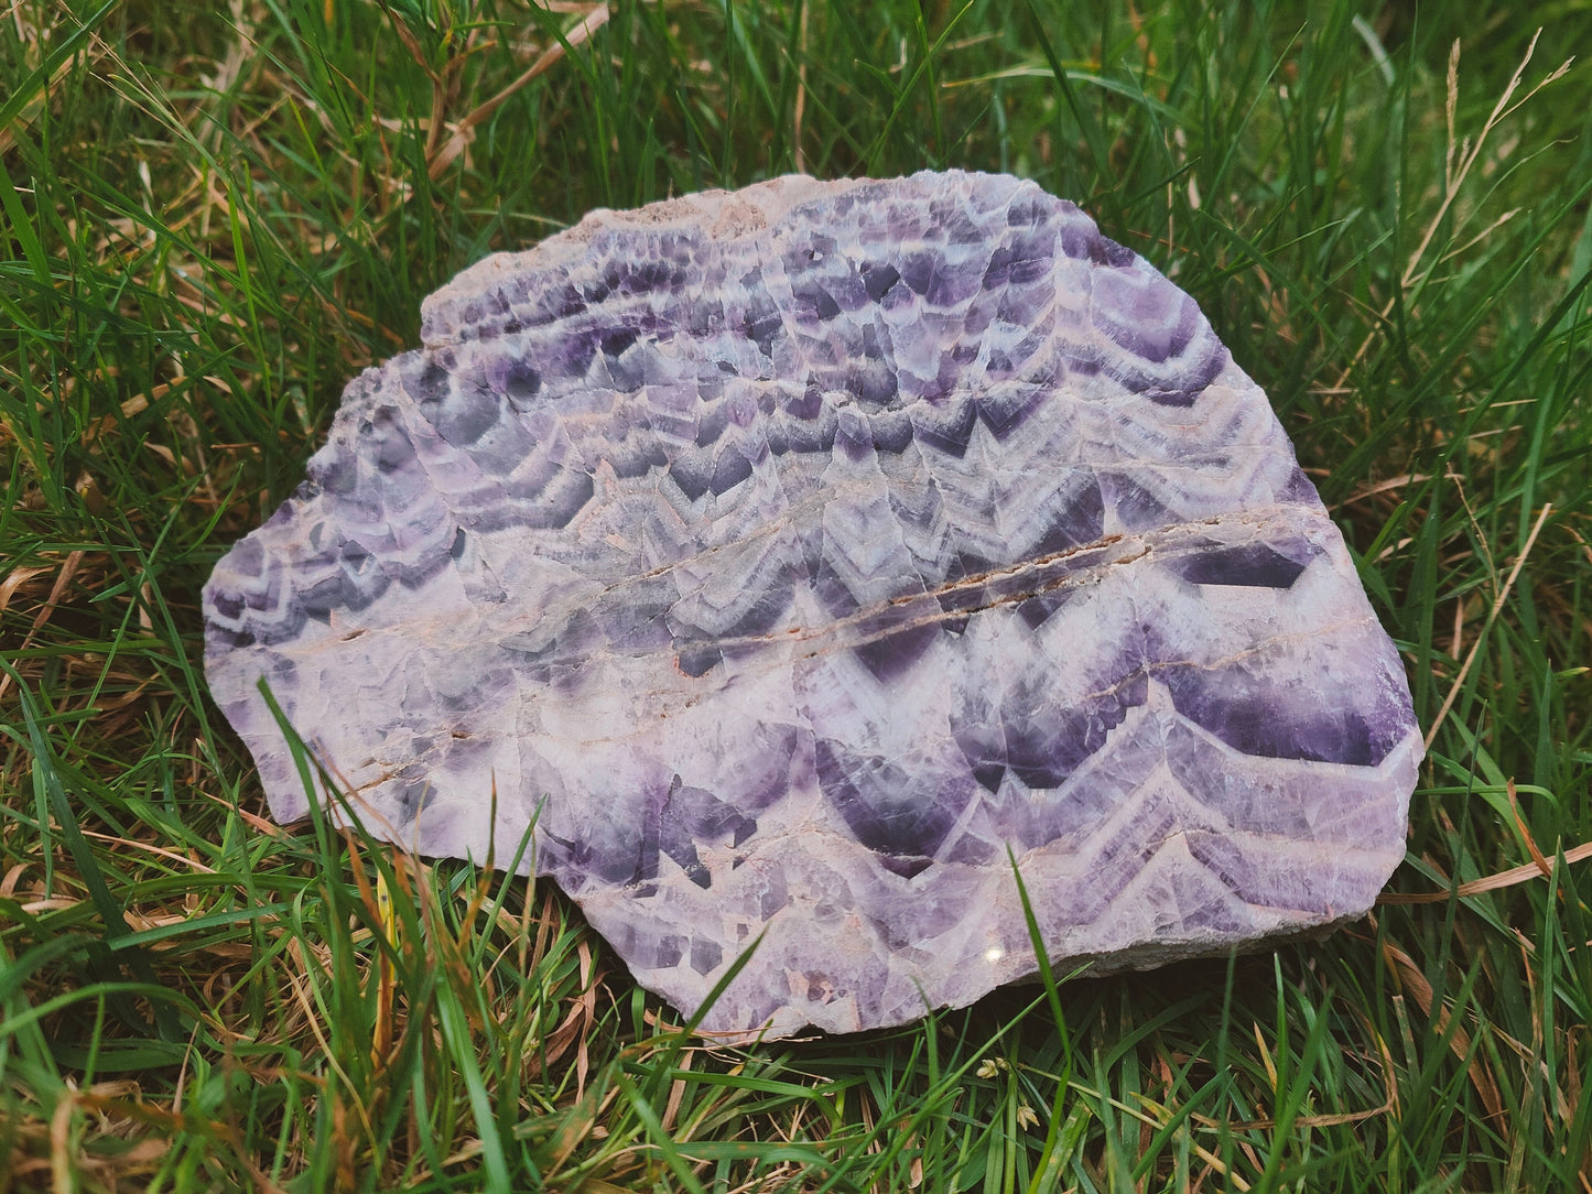
{"label": "green grass with dry straw-coloured blades surrounding the purple stone slab", "polygon": [[[0,1191],[1592,1189],[1592,11],[1520,8],[0,5]],[[425,293],[949,166],[1270,393],[1433,736],[1388,903],[708,1051],[548,885],[261,818],[199,586]]]}

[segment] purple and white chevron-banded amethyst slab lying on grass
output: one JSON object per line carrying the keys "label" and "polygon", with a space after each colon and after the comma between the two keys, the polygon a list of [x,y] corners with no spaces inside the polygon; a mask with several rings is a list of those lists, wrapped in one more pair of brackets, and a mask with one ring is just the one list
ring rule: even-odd
{"label": "purple and white chevron-banded amethyst slab lying on grass", "polygon": [[1032,974],[1011,858],[1057,965],[1356,917],[1422,756],[1266,395],[998,175],[777,178],[466,269],[205,618],[277,818],[261,678],[392,842],[535,823],[678,1008],[761,933],[702,1020],[737,1038]]}

